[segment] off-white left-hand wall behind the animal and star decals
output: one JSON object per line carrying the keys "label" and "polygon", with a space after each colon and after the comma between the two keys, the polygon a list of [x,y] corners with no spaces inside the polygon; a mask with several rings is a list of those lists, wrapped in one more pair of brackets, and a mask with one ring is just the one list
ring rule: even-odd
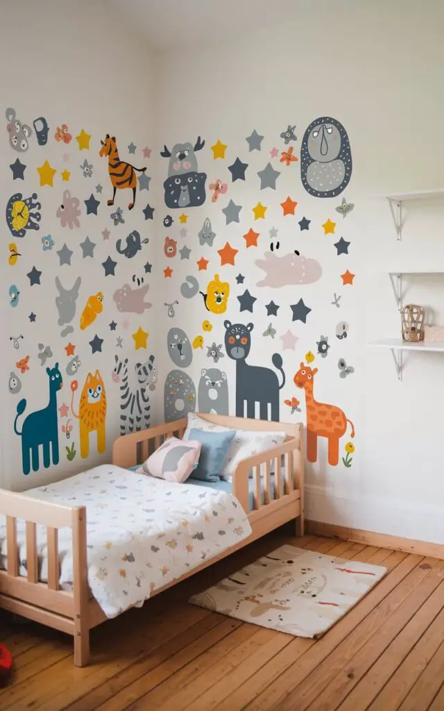
{"label": "off-white left-hand wall behind the animal and star decals", "polygon": [[[25,18],[20,24],[20,18]],[[40,1],[30,3],[18,0],[13,3],[3,3],[1,7],[1,65],[0,85],[3,97],[3,109],[14,107],[17,117],[22,122],[31,124],[36,117],[43,116],[48,120],[50,134],[46,146],[38,146],[35,136],[31,137],[30,148],[20,155],[22,163],[26,164],[25,180],[12,180],[9,169],[18,154],[11,147],[4,130],[4,139],[0,144],[1,151],[1,194],[4,205],[9,197],[16,191],[21,191],[23,196],[38,193],[38,200],[42,204],[40,230],[28,231],[23,239],[11,237],[9,229],[4,223],[3,230],[3,257],[1,259],[1,324],[4,347],[1,352],[1,466],[0,484],[8,488],[29,488],[45,481],[60,479],[66,474],[74,474],[93,466],[99,461],[109,461],[113,439],[119,434],[119,394],[117,385],[112,382],[111,374],[114,367],[114,354],[129,358],[129,365],[133,368],[137,360],[146,360],[148,354],[156,353],[156,329],[152,311],[146,311],[143,316],[137,314],[119,314],[116,304],[112,299],[114,291],[131,282],[134,272],[144,272],[143,264],[149,260],[155,264],[153,258],[153,223],[144,221],[141,210],[147,201],[152,203],[152,192],[142,191],[138,194],[136,207],[129,213],[126,209],[131,197],[131,191],[119,191],[116,205],[123,206],[125,225],[114,228],[109,218],[111,208],[106,205],[107,198],[111,197],[112,189],[107,173],[106,159],[99,158],[99,140],[109,132],[117,137],[122,159],[128,159],[128,144],[134,141],[138,146],[135,156],[130,161],[134,164],[147,165],[147,174],[153,175],[150,161],[144,159],[141,149],[148,145],[153,147],[153,91],[151,57],[146,46],[139,38],[121,30],[119,18],[114,16],[106,2],[76,1],[75,3],[54,3]],[[144,91],[139,90],[141,82]],[[2,114],[4,115],[4,113]],[[54,139],[57,126],[66,123],[72,133],[73,140],[68,146],[58,144]],[[4,119],[6,129],[6,119]],[[90,150],[80,151],[75,141],[75,136],[80,129],[85,129],[92,134]],[[64,163],[63,153],[70,154],[70,159]],[[92,178],[84,178],[80,164],[85,158],[94,166]],[[53,187],[39,186],[38,166],[48,159],[50,165],[58,170],[53,182]],[[132,159],[132,160],[131,160]],[[67,168],[71,172],[70,182],[63,182],[60,171]],[[83,200],[94,195],[94,186],[101,183],[102,201],[99,214],[85,214]],[[61,228],[60,221],[55,213],[62,202],[63,190],[69,188],[72,195],[80,198],[82,215],[80,228],[68,230]],[[109,228],[111,236],[109,241],[104,241],[102,230]],[[123,239],[131,230],[137,229],[142,237],[149,237],[150,243],[144,245],[143,252],[139,253],[141,259],[126,260],[117,255],[115,242],[118,237]],[[43,253],[41,237],[53,235],[55,247],[52,252]],[[89,235],[96,243],[94,259],[82,259],[80,242]],[[8,244],[16,242],[21,257],[14,266],[8,264]],[[60,267],[56,250],[66,242],[72,250],[71,266],[67,264]],[[118,262],[116,277],[104,277],[101,262],[111,255]],[[30,287],[26,274],[33,265],[42,271],[41,286]],[[155,270],[149,277],[151,290],[148,300],[153,301],[155,288]],[[78,275],[82,277],[80,295],[77,299],[77,313],[75,316],[75,332],[60,338],[60,328],[57,325],[58,313],[55,308],[55,276],[58,275],[63,283],[70,287]],[[16,309],[9,306],[9,286],[16,284],[21,292],[20,303]],[[79,319],[88,297],[101,290],[104,294],[104,311],[97,317],[92,326],[85,331],[80,331]],[[34,311],[37,321],[31,324],[28,314]],[[127,328],[123,321],[127,319]],[[111,332],[109,323],[117,322],[117,329]],[[134,341],[131,333],[143,326],[150,333],[148,349],[134,350]],[[9,336],[23,334],[20,350],[14,350]],[[94,334],[104,338],[102,353],[95,353],[89,345]],[[116,348],[116,338],[123,338],[123,348]],[[58,394],[58,406],[63,402],[70,405],[71,391],[70,380],[65,374],[65,365],[69,360],[64,351],[65,345],[71,341],[76,345],[76,353],[82,360],[82,368],[77,373],[79,387],[82,388],[87,373],[98,369],[104,380],[107,400],[107,451],[103,455],[97,454],[95,434],[90,436],[91,450],[87,460],[80,459],[78,421],[73,419],[74,430],[72,437],[67,442],[61,427],[66,419],[59,417],[59,442],[60,464],[58,467],[44,469],[40,460],[40,469],[31,471],[29,476],[23,476],[21,467],[21,442],[13,434],[13,419],[16,413],[16,404],[21,397],[26,397],[28,405],[26,414],[45,407],[48,402],[48,378],[45,367],[53,366],[55,361],[60,363],[60,370],[64,376],[63,389]],[[54,356],[45,367],[40,367],[37,358],[38,343],[50,345]],[[17,371],[15,363],[18,357],[31,355],[30,370],[21,376],[22,390],[18,395],[11,395],[8,391],[9,373]],[[154,396],[156,393],[153,394]],[[80,390],[77,392],[75,407],[78,411]],[[154,398],[152,400],[154,404]],[[19,420],[21,428],[23,416]],[[77,456],[72,462],[66,459],[65,446],[75,442]],[[41,456],[41,453],[40,453]]]}

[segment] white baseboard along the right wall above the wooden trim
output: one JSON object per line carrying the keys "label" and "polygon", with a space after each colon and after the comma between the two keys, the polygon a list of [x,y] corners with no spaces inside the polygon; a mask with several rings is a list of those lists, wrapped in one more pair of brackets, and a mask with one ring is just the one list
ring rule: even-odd
{"label": "white baseboard along the right wall above the wooden trim", "polygon": [[444,544],[444,504],[427,506],[385,498],[335,498],[307,486],[305,518]]}

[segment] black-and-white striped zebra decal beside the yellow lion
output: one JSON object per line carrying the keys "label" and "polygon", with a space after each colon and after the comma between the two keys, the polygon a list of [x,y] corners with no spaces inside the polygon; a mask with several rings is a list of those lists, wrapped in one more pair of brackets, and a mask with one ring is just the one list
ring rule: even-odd
{"label": "black-and-white striped zebra decal beside the yellow lion", "polygon": [[[120,436],[130,432],[139,432],[150,426],[151,405],[148,388],[156,387],[156,368],[153,366],[154,356],[150,355],[145,363],[136,363],[135,372],[137,384],[129,385],[128,358],[121,360],[114,355],[116,365],[112,372],[112,380],[120,387]],[[146,387],[148,386],[148,387]]]}

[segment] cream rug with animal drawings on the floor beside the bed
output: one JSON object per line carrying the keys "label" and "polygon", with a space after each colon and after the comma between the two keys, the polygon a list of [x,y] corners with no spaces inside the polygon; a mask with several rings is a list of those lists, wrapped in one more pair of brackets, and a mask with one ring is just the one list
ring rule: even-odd
{"label": "cream rug with animal drawings on the floor beside the bed", "polygon": [[318,638],[386,568],[283,545],[193,595],[193,605],[298,637]]}

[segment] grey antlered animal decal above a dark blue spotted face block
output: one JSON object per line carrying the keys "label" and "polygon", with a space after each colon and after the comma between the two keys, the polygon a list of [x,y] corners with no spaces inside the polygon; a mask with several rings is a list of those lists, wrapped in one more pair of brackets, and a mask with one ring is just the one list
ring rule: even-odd
{"label": "grey antlered animal decal above a dark blue spotted face block", "polygon": [[165,204],[168,208],[195,208],[205,203],[205,181],[207,173],[197,170],[197,151],[202,150],[205,141],[197,137],[191,143],[176,143],[170,151],[164,146],[162,158],[169,158],[168,178],[163,183]]}

